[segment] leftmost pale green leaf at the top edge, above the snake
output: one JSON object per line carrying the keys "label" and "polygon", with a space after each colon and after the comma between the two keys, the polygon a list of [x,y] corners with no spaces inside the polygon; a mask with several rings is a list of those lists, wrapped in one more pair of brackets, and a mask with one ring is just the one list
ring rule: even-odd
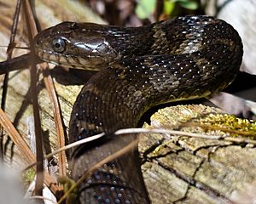
{"label": "leftmost pale green leaf at the top edge, above the snake", "polygon": [[140,0],[135,10],[140,19],[147,19],[150,14],[154,13],[156,0]]}

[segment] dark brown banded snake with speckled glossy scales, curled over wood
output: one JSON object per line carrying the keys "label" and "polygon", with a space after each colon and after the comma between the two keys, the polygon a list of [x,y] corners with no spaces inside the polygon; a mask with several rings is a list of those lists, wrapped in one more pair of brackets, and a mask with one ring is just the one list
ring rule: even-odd
{"label": "dark brown banded snake with speckled glossy scales, curled over wood", "polygon": [[[55,65],[98,70],[84,85],[69,124],[70,142],[108,133],[73,151],[72,177],[136,139],[113,136],[150,107],[206,97],[236,77],[242,44],[236,30],[208,16],[186,16],[142,27],[63,22],[35,37],[35,49]],[[157,186],[156,186],[157,187]],[[150,203],[134,150],[91,173],[81,203]]]}

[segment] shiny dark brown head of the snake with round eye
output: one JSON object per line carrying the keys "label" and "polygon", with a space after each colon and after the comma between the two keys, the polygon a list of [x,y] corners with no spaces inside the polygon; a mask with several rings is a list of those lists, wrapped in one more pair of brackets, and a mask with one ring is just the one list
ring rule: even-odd
{"label": "shiny dark brown head of the snake with round eye", "polygon": [[35,52],[40,59],[55,65],[100,70],[119,58],[102,35],[103,29],[92,23],[63,22],[38,33],[34,38]]}

